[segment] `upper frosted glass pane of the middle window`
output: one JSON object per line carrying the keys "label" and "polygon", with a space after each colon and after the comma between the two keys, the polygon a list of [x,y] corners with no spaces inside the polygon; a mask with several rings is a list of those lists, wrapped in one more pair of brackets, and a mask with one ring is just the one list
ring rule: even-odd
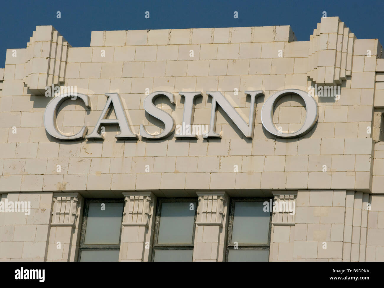
{"label": "upper frosted glass pane of the middle window", "polygon": [[163,202],[161,204],[157,244],[192,244],[195,208],[190,202]]}

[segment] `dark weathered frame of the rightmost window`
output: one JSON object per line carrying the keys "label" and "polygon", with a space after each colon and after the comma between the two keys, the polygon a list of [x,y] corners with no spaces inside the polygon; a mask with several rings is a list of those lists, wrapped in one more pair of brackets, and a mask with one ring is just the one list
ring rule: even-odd
{"label": "dark weathered frame of the rightmost window", "polygon": [[[233,247],[232,230],[233,230],[233,216],[235,213],[236,202],[265,202],[273,200],[273,197],[231,197],[229,206],[228,217],[228,232],[227,232],[227,245],[225,247],[225,262],[228,262],[229,250],[268,250],[268,259],[270,256],[271,248],[271,230],[272,230],[272,211],[270,211],[269,229],[268,229],[268,243],[266,244],[237,244],[237,249]],[[268,260],[269,261],[269,260]]]}

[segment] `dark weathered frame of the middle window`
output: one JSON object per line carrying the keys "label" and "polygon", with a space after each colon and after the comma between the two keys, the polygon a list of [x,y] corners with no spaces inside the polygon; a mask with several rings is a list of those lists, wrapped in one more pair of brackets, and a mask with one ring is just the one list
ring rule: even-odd
{"label": "dark weathered frame of the middle window", "polygon": [[[192,244],[158,244],[157,241],[159,239],[159,228],[160,228],[160,217],[161,217],[161,207],[164,202],[189,202],[195,204],[195,216],[194,216],[194,224],[192,231]],[[197,205],[198,199],[193,197],[177,197],[177,198],[158,198],[156,204],[156,217],[155,217],[155,230],[154,230],[154,239],[152,246],[152,255],[151,262],[155,260],[155,252],[156,250],[194,250],[195,243],[195,231],[196,231],[196,218],[197,218]],[[193,256],[192,256],[193,257]]]}

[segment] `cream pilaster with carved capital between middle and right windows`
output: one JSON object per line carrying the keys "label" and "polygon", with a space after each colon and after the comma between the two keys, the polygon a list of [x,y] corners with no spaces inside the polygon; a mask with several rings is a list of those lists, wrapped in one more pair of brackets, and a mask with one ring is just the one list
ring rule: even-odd
{"label": "cream pilaster with carved capital between middle and right windows", "polygon": [[193,261],[223,261],[227,235],[228,195],[224,191],[197,192],[197,220]]}

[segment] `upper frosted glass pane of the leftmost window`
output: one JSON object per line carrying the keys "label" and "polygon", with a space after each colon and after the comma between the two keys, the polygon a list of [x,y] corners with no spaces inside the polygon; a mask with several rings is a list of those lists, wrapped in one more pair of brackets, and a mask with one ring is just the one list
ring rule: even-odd
{"label": "upper frosted glass pane of the leftmost window", "polygon": [[124,203],[89,203],[84,244],[119,244]]}

